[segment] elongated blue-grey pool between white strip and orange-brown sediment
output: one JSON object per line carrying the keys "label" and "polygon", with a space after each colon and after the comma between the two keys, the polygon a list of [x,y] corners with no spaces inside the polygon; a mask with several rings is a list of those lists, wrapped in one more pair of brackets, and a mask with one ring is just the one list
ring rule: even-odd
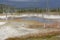
{"label": "elongated blue-grey pool between white strip and orange-brown sediment", "polygon": [[50,19],[45,19],[45,18],[40,18],[40,17],[21,17],[21,19],[23,20],[33,20],[33,21],[38,21],[38,22],[42,22],[42,23],[53,23],[54,20],[50,20]]}

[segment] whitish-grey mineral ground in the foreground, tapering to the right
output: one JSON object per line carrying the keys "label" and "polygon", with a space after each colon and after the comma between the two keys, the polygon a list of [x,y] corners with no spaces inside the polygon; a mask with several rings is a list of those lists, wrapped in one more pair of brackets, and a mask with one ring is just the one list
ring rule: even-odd
{"label": "whitish-grey mineral ground in the foreground, tapering to the right", "polygon": [[[25,25],[18,25],[19,22],[12,22],[12,23],[6,23],[6,25],[3,25],[0,28],[0,40],[5,40],[7,38],[13,38],[13,37],[20,37],[27,34],[35,34],[35,33],[47,33],[51,31],[58,31],[57,29],[31,29],[31,28],[25,28],[23,26]],[[23,23],[22,23],[23,24]],[[48,31],[49,30],[49,31]]]}

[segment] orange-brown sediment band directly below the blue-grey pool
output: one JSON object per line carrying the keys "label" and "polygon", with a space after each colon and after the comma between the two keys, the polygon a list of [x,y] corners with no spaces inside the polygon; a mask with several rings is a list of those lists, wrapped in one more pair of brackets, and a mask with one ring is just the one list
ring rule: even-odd
{"label": "orange-brown sediment band directly below the blue-grey pool", "polygon": [[24,22],[24,23],[27,23],[27,25],[29,24],[28,28],[39,28],[39,27],[44,27],[44,25],[45,25],[45,28],[60,28],[60,22],[47,24],[47,23],[42,23],[38,21],[30,21],[30,20],[27,21],[22,19],[9,20],[9,22]]}

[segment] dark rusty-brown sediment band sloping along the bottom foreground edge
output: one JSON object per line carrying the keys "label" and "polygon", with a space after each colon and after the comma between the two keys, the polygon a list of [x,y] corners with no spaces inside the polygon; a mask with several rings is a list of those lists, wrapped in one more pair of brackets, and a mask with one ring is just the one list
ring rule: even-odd
{"label": "dark rusty-brown sediment band sloping along the bottom foreground edge", "polygon": [[60,34],[60,31],[51,31],[51,32],[46,32],[46,33],[38,32],[38,33],[27,34],[21,37],[7,38],[6,40],[22,40],[22,39],[27,39],[27,38],[41,38],[41,37],[55,36],[59,34]]}

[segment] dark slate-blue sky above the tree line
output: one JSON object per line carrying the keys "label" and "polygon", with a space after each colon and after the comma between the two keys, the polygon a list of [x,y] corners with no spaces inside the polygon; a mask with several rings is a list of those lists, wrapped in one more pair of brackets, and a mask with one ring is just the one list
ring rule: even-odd
{"label": "dark slate-blue sky above the tree line", "polygon": [[[40,7],[46,8],[47,0],[0,0],[0,4],[12,5],[14,7],[24,8],[24,7]],[[48,0],[48,6],[50,8],[60,7],[60,0]]]}

